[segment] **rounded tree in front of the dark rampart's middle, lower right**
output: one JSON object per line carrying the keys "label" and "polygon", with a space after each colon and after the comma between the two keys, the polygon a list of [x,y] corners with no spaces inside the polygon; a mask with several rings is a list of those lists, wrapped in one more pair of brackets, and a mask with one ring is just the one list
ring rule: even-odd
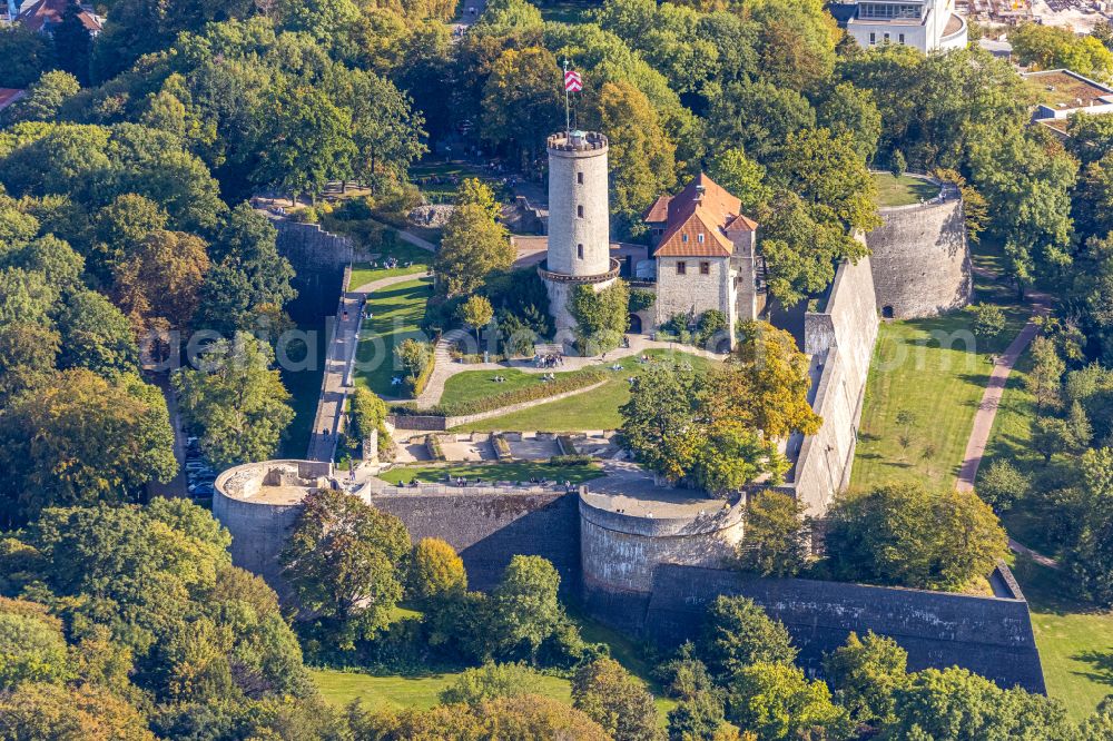
{"label": "rounded tree in front of the dark rampart's middle, lower right", "polygon": [[894,693],[908,683],[907,664],[908,652],[893,639],[873,631],[859,639],[851,631],[824,656],[824,673],[855,722],[878,725],[895,720]]}

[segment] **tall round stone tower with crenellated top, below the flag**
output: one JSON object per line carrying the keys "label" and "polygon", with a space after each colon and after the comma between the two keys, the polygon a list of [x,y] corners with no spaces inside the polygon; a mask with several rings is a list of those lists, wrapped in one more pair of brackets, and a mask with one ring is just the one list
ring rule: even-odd
{"label": "tall round stone tower with crenellated top, below the flag", "polygon": [[619,275],[611,259],[607,148],[607,137],[595,131],[549,137],[549,248],[538,273],[559,342],[574,338],[572,292],[581,285],[602,290]]}

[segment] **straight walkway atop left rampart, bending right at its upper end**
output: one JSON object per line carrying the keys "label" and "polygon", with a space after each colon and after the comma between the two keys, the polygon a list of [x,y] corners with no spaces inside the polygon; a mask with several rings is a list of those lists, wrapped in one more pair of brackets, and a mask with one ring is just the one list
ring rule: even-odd
{"label": "straight walkway atop left rampart, bending right at its upper end", "polygon": [[309,434],[309,447],[306,454],[309,461],[332,461],[336,452],[337,435],[343,432],[344,399],[347,398],[349,389],[348,375],[359,347],[364,299],[376,290],[400,283],[418,280],[421,277],[420,273],[410,273],[380,278],[345,292],[341,298],[332,337],[328,340],[328,352],[325,355],[325,374],[321,382],[317,413],[313,417],[313,431]]}

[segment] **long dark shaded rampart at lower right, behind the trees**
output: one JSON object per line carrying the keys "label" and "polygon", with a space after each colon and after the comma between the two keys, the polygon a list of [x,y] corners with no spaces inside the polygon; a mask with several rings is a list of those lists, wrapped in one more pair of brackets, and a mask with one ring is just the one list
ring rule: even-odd
{"label": "long dark shaded rampart at lower right, behind the trees", "polygon": [[[1007,567],[998,570],[1007,572]],[[1007,577],[1004,577],[1007,581]],[[823,654],[850,631],[888,635],[908,652],[908,669],[962,666],[1003,688],[1045,692],[1023,599],[983,597],[802,579],[760,579],[730,571],[657,569],[643,633],[664,646],[698,635],[720,594],[754,600],[779,620],[800,650],[797,663],[823,671]]]}

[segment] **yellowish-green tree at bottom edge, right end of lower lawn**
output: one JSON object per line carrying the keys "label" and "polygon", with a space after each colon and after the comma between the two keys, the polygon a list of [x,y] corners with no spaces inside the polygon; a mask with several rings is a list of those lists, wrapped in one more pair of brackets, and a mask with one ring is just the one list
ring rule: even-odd
{"label": "yellowish-green tree at bottom edge, right end of lower lawn", "polygon": [[613,659],[597,659],[572,675],[572,705],[615,741],[659,741],[653,695]]}

